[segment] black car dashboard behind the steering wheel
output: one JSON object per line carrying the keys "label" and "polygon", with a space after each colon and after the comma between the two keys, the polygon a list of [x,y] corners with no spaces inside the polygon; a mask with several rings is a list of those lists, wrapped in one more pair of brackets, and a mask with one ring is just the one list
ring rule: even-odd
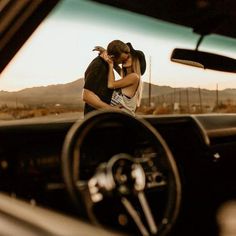
{"label": "black car dashboard behind the steering wheel", "polygon": [[[236,177],[235,115],[140,116],[135,119],[144,120],[158,132],[177,165],[182,194],[171,233],[199,235],[208,229],[208,235],[216,235],[219,207],[236,197],[233,183]],[[73,217],[83,217],[82,211],[73,207],[66,191],[61,160],[66,136],[76,123],[83,124],[83,121],[2,122],[1,191]],[[140,133],[132,125],[122,126],[111,118],[96,125],[84,140],[80,179],[91,178],[99,163],[118,152],[129,153],[134,158],[162,155],[154,149],[148,134]],[[155,186],[155,181],[149,184]]]}

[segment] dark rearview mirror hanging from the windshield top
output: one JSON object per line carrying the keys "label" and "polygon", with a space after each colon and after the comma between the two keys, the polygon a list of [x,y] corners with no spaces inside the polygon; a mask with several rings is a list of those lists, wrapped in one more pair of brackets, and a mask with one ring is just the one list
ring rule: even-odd
{"label": "dark rearview mirror hanging from the windshield top", "polygon": [[171,61],[203,69],[236,73],[235,59],[209,52],[175,48],[171,54]]}

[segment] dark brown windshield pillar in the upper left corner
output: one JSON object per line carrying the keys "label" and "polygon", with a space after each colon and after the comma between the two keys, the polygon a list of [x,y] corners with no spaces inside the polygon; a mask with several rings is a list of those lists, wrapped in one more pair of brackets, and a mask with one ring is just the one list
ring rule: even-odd
{"label": "dark brown windshield pillar in the upper left corner", "polygon": [[0,1],[0,73],[58,2]]}

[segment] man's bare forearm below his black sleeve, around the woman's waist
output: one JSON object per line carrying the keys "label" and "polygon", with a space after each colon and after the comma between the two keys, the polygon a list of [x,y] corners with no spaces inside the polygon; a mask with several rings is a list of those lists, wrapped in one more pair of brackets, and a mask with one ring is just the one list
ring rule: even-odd
{"label": "man's bare forearm below his black sleeve, around the woman's waist", "polygon": [[109,104],[103,102],[94,92],[88,89],[83,89],[82,99],[84,102],[88,103],[90,106],[94,107],[95,109],[114,108],[110,106]]}

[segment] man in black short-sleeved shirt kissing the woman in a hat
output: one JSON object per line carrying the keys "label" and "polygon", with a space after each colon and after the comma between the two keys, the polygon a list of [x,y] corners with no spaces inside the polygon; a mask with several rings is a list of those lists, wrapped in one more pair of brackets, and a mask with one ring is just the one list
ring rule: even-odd
{"label": "man in black short-sleeved shirt kissing the woman in a hat", "polygon": [[[107,54],[114,64],[124,63],[129,58],[130,49],[126,43],[114,40],[107,46]],[[97,109],[109,109],[113,89],[107,86],[108,64],[97,56],[85,71],[83,100],[85,102],[84,115]],[[114,108],[114,107],[113,107]]]}

